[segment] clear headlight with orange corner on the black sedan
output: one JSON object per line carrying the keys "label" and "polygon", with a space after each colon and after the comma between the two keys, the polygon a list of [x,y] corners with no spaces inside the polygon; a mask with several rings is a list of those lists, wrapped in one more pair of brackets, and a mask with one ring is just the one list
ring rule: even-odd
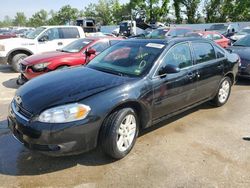
{"label": "clear headlight with orange corner on the black sedan", "polygon": [[45,110],[38,117],[38,121],[44,123],[67,123],[84,119],[90,107],[83,104],[68,104]]}

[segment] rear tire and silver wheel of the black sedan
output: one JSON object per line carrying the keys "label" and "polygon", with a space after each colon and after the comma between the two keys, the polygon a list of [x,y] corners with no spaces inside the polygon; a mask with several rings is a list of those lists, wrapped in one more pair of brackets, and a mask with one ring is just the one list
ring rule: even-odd
{"label": "rear tire and silver wheel of the black sedan", "polygon": [[229,77],[225,77],[221,80],[217,94],[212,100],[212,103],[216,107],[220,107],[226,104],[231,94],[231,87],[232,87],[232,81]]}

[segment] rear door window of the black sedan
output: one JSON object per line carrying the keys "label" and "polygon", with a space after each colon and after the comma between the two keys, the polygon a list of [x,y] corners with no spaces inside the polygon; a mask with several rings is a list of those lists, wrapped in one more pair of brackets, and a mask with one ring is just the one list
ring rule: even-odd
{"label": "rear door window of the black sedan", "polygon": [[196,63],[203,63],[216,59],[214,48],[209,43],[193,43]]}

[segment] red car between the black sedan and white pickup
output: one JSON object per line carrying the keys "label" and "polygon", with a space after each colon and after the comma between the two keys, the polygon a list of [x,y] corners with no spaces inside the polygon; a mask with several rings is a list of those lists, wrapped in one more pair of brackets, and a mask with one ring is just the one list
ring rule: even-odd
{"label": "red car between the black sedan and white pickup", "polygon": [[17,79],[17,84],[22,85],[34,77],[57,69],[84,65],[120,40],[122,39],[117,37],[88,37],[78,39],[61,50],[29,56],[21,62],[21,74]]}

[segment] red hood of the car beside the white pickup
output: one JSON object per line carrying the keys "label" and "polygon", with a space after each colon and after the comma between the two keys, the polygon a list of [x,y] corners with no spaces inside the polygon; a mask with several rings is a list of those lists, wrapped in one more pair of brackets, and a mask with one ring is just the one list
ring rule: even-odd
{"label": "red hood of the car beside the white pickup", "polygon": [[74,54],[75,53],[67,53],[67,52],[61,52],[61,51],[45,52],[45,53],[35,54],[35,55],[25,58],[23,64],[34,65],[37,63],[51,62],[53,59],[64,58],[66,56],[69,57]]}

